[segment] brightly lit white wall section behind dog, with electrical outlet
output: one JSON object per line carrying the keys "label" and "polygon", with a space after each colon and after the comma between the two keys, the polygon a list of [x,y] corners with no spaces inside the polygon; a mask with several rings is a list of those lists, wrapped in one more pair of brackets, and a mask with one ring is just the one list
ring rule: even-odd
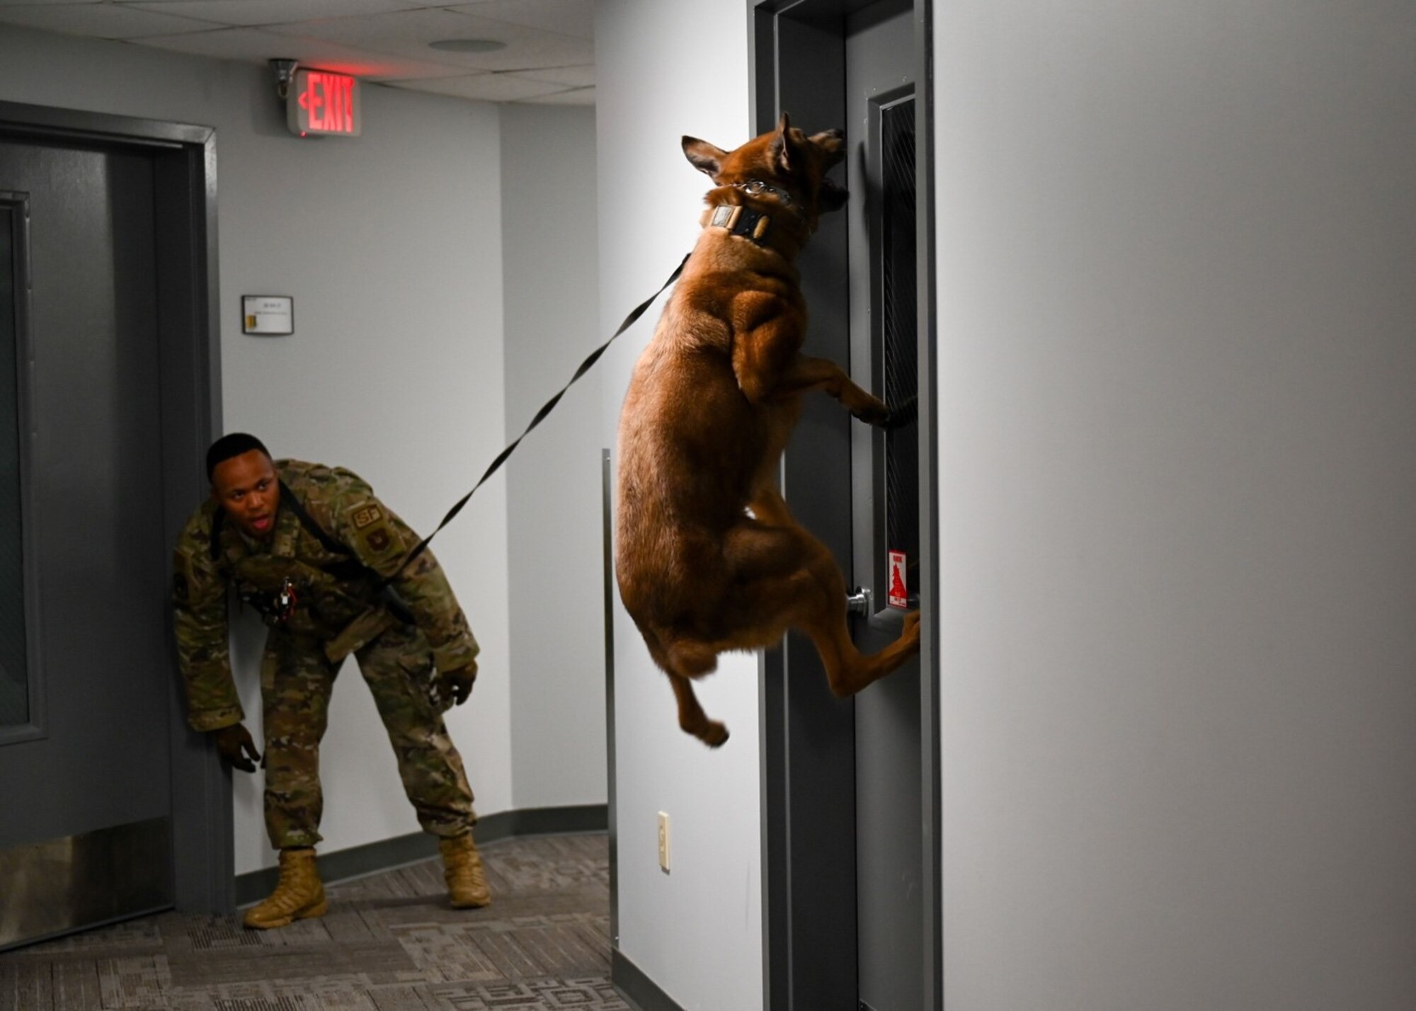
{"label": "brightly lit white wall section behind dog, with electrical outlet", "polygon": [[[607,334],[698,236],[708,184],[684,160],[680,137],[735,147],[749,136],[746,8],[738,0],[607,0],[595,10]],[[606,439],[657,316],[602,362]],[[756,658],[724,657],[698,695],[732,732],[719,750],[678,729],[667,678],[616,600],[619,947],[688,1011],[746,1011],[762,1007]],[[660,810],[674,826],[668,875],[658,869]]]}

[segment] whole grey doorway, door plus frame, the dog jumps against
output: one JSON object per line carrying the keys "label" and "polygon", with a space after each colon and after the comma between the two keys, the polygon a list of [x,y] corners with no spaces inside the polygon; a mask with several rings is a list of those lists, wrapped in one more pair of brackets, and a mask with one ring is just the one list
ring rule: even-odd
{"label": "whole grey doorway, door plus frame, the dog jumps against", "polygon": [[[920,660],[852,699],[830,695],[796,634],[763,656],[772,1011],[942,1005],[930,10],[929,0],[753,4],[756,130],[789,110],[797,126],[847,132],[848,210],[823,219],[799,261],[806,351],[850,362],[893,406],[919,398],[918,421],[889,433],[809,398],[782,487],[847,579],[872,590],[869,613],[854,619],[862,650],[898,636],[906,609],[925,619]],[[903,554],[905,607],[889,606],[891,551]]]}

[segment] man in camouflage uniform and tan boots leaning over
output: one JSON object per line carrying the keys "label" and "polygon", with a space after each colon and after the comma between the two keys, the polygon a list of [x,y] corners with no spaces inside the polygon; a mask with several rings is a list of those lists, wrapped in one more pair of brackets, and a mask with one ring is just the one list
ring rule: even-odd
{"label": "man in camouflage uniform and tan boots leaning over", "polygon": [[350,654],[384,726],[422,827],[439,837],[452,905],[491,901],[472,838],[476,820],[462,756],[442,714],[477,674],[477,643],[432,552],[355,474],[272,460],[234,433],[207,453],[212,496],[177,542],[173,612],[188,721],[211,732],[238,769],[261,755],[242,726],[231,678],[227,588],[269,626],[261,663],[265,816],[280,882],[246,910],[276,927],[326,912],[314,865],[323,809],[319,775],[330,690]]}

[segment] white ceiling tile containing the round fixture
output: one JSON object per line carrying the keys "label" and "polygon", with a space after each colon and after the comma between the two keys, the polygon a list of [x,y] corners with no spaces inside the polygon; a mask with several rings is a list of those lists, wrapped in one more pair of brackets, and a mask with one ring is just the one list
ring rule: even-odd
{"label": "white ceiling tile containing the round fixture", "polygon": [[[273,25],[269,31],[484,71],[593,62],[593,44],[589,40],[443,8],[306,21],[297,25]],[[506,42],[507,48],[497,52],[446,52],[428,48],[429,42],[442,38],[493,38]]]}

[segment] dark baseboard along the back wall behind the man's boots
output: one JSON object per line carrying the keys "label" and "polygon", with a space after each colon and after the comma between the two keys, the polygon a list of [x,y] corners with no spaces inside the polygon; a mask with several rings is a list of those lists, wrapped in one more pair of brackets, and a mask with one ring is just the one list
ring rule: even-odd
{"label": "dark baseboard along the back wall behind the man's boots", "polygon": [[[497,811],[477,818],[477,845],[514,835],[554,835],[556,833],[603,833],[609,827],[606,804],[576,804],[572,807],[524,807]],[[320,854],[320,878],[326,884],[360,878],[365,874],[388,871],[404,864],[416,864],[438,855],[438,837],[409,833],[391,840]],[[259,902],[275,891],[279,869],[273,867],[236,875],[236,905]]]}

